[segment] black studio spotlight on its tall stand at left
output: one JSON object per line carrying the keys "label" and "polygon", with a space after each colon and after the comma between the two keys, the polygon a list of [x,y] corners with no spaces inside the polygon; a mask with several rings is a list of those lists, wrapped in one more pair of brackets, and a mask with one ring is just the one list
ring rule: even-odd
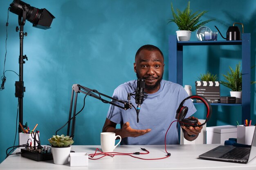
{"label": "black studio spotlight on its tall stand at left", "polygon": [[[39,29],[49,29],[51,28],[52,20],[55,18],[47,9],[38,9],[31,7],[29,4],[21,0],[13,0],[9,7],[10,12],[18,15],[18,26],[16,27],[16,32],[20,30],[20,56],[19,56],[19,81],[15,82],[15,97],[18,97],[19,104],[19,122],[23,125],[23,97],[25,92],[24,82],[23,82],[23,64],[24,59],[27,60],[27,56],[23,55],[23,38],[27,33],[23,32],[23,27],[26,20],[31,22],[34,27]],[[22,132],[19,126],[18,132]]]}

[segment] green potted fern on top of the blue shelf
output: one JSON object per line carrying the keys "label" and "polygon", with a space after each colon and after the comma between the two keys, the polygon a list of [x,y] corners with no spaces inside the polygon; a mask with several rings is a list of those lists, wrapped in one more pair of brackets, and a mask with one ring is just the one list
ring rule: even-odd
{"label": "green potted fern on top of the blue shelf", "polygon": [[188,5],[183,12],[177,9],[177,14],[173,9],[173,3],[171,3],[171,11],[173,14],[173,19],[169,19],[168,21],[175,22],[175,24],[177,24],[178,28],[180,29],[180,31],[176,31],[178,41],[189,41],[193,31],[213,20],[200,20],[202,15],[208,11],[192,13],[192,10],[190,10],[190,1],[188,2]]}

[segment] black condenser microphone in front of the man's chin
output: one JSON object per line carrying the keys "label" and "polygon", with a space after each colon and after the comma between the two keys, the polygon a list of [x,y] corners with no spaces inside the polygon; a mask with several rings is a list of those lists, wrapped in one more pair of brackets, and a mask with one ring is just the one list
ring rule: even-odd
{"label": "black condenser microphone in front of the man's chin", "polygon": [[137,104],[137,123],[139,123],[139,111],[140,111],[140,105],[144,101],[145,93],[144,93],[144,88],[145,88],[145,79],[138,79],[137,80],[137,90],[135,91],[135,103]]}

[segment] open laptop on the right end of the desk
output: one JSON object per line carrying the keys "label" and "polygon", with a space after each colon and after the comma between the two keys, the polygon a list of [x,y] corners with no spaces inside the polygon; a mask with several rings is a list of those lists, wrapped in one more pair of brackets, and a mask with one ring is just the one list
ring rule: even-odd
{"label": "open laptop on the right end of the desk", "polygon": [[256,157],[256,130],[254,130],[251,148],[218,146],[202,155],[199,155],[199,157],[215,161],[247,163]]}

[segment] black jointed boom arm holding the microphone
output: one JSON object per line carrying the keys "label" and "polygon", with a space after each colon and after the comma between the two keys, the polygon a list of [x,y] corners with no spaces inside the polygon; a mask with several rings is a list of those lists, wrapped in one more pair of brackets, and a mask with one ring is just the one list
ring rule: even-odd
{"label": "black jointed boom arm holding the microphone", "polygon": [[[75,100],[74,100],[74,110],[73,110],[73,117],[71,118],[72,116],[72,108],[73,108],[73,99],[74,99],[74,92],[76,93],[75,95]],[[81,86],[79,84],[73,84],[72,86],[72,95],[71,95],[71,102],[70,102],[70,113],[69,113],[69,117],[68,117],[68,125],[67,125],[67,136],[69,136],[69,133],[70,133],[70,124],[71,124],[71,119],[72,119],[72,129],[71,129],[71,135],[70,137],[74,137],[74,132],[75,132],[75,123],[76,123],[76,102],[77,102],[77,95],[78,93],[84,93],[85,95],[89,95],[91,97],[94,97],[96,99],[99,99],[101,100],[101,102],[103,103],[108,103],[108,104],[112,104],[114,106],[117,106],[119,108],[122,108],[124,110],[127,110],[129,108],[132,108],[134,107],[131,103],[130,103],[130,96],[131,95],[135,95],[135,94],[132,94],[132,93],[128,93],[128,102],[126,101],[123,101],[123,100],[118,100],[118,99],[115,99],[113,97],[110,97],[108,95],[104,95],[102,93],[99,93],[98,91],[96,90],[92,90],[90,88],[87,88],[87,87],[84,87],[84,86]],[[107,97],[109,99],[111,99],[112,101],[108,101],[108,100],[105,100],[105,99],[102,99],[101,96],[104,96],[104,97]],[[120,106],[117,104],[117,102],[121,103],[121,104],[124,104],[124,106]],[[135,108],[135,107],[134,107]],[[136,110],[136,108],[135,108]]]}

